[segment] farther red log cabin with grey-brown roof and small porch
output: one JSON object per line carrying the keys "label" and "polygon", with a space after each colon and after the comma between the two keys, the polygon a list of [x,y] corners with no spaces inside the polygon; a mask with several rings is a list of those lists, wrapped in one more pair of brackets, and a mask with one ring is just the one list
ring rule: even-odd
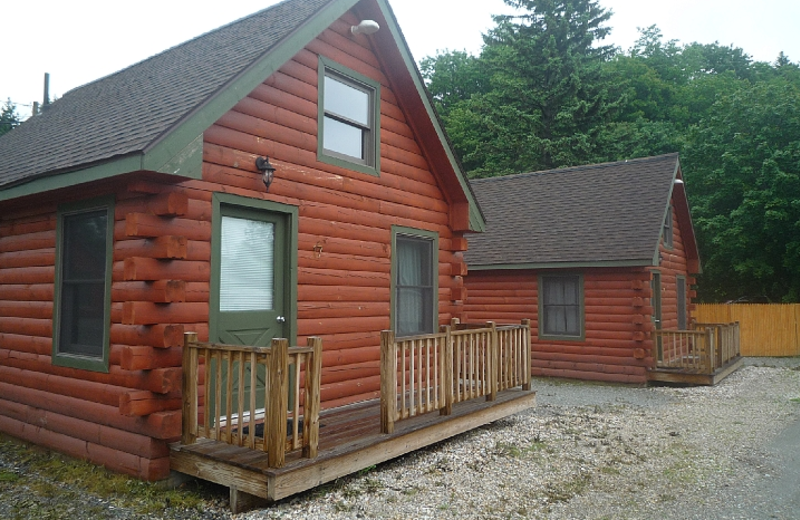
{"label": "farther red log cabin with grey-brown roof and small porch", "polygon": [[534,376],[708,384],[738,366],[732,327],[692,323],[700,260],[677,154],[472,187],[487,229],[465,255],[465,318],[530,318]]}

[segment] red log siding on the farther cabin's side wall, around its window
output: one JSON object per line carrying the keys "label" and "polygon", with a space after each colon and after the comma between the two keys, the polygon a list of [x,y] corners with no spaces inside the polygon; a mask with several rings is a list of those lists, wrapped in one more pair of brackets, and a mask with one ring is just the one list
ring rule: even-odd
{"label": "red log siding on the farther cabin's side wall, around its window", "polygon": [[465,279],[468,322],[531,320],[534,376],[644,384],[652,364],[649,273],[587,269],[584,341],[539,339],[538,271],[471,271]]}

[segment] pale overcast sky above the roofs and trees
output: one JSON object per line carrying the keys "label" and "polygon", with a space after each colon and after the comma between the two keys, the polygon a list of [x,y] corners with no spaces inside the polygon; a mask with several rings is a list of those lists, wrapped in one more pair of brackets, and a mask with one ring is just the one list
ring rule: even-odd
{"label": "pale overcast sky above the roofs and trees", "polygon": [[[42,99],[141,61],[211,29],[277,3],[276,0],[39,0],[4,2],[0,101],[27,115]],[[437,50],[477,53],[502,0],[390,0],[414,57]],[[800,61],[800,0],[600,0],[614,12],[610,43],[628,49],[637,27],[658,25],[667,40],[741,47],[774,62],[783,51]]]}

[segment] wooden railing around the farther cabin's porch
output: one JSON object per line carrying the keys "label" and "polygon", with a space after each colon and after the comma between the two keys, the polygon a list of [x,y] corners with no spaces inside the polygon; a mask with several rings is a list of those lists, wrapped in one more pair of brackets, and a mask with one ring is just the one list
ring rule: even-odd
{"label": "wooden railing around the farther cabin's porch", "polygon": [[741,355],[739,323],[695,323],[694,330],[655,332],[656,367],[713,374]]}

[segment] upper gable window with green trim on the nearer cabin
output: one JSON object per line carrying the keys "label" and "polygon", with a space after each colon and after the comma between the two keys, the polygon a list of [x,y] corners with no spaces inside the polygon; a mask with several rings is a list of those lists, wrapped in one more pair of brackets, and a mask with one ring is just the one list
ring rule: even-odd
{"label": "upper gable window with green trim on the nearer cabin", "polygon": [[377,175],[380,85],[320,57],[320,161]]}

